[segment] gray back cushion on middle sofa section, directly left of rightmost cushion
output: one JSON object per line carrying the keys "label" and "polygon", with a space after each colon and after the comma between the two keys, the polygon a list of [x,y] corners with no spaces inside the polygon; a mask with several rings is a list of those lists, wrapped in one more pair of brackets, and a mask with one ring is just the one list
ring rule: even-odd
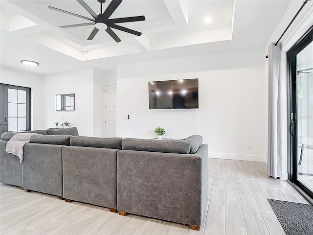
{"label": "gray back cushion on middle sofa section, directly left of rightmost cushion", "polygon": [[94,147],[94,148],[112,148],[122,149],[123,138],[100,138],[100,137],[86,137],[73,136],[70,138],[71,146]]}

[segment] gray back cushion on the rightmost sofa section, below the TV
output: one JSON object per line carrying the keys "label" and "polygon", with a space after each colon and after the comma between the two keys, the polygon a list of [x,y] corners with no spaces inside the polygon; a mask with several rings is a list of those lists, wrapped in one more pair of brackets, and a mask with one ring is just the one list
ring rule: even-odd
{"label": "gray back cushion on the rightmost sofa section, below the TV", "polygon": [[122,149],[161,153],[190,153],[191,144],[185,140],[145,140],[125,138]]}

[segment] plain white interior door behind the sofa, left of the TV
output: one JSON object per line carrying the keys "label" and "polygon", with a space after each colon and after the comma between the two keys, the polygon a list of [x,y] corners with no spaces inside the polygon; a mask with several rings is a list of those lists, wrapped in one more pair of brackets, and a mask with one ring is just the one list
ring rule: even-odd
{"label": "plain white interior door behind the sofa, left of the TV", "polygon": [[116,85],[106,86],[106,137],[116,137]]}

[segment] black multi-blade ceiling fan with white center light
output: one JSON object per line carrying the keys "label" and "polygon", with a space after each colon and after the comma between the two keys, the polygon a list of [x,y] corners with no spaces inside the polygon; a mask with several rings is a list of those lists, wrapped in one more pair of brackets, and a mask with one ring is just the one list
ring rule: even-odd
{"label": "black multi-blade ceiling fan with white center light", "polygon": [[123,27],[121,25],[117,25],[116,23],[127,23],[127,22],[136,22],[136,21],[145,21],[146,18],[144,16],[133,16],[133,17],[124,17],[124,18],[116,18],[116,19],[109,19],[109,17],[112,15],[112,13],[116,10],[116,8],[121,4],[122,0],[112,0],[107,9],[102,13],[102,3],[104,3],[106,0],[98,0],[100,2],[100,14],[97,15],[94,13],[94,11],[87,5],[87,3],[84,0],[77,0],[79,4],[81,4],[88,12],[89,14],[94,18],[88,18],[85,16],[81,16],[69,11],[65,11],[59,8],[55,8],[52,6],[48,6],[49,9],[60,11],[72,16],[76,16],[79,18],[83,18],[85,20],[92,21],[92,23],[84,23],[84,24],[71,24],[71,25],[64,25],[60,26],[61,28],[72,28],[72,27],[79,27],[79,26],[87,26],[87,25],[95,25],[95,28],[92,30],[91,34],[88,37],[88,40],[92,40],[94,36],[97,34],[99,29],[106,30],[110,36],[115,40],[115,42],[119,43],[121,42],[120,38],[113,32],[111,28],[115,28],[117,30],[121,30],[127,33],[131,33],[137,36],[140,36],[141,33],[138,31],[135,31],[133,29],[129,29],[126,27]]}

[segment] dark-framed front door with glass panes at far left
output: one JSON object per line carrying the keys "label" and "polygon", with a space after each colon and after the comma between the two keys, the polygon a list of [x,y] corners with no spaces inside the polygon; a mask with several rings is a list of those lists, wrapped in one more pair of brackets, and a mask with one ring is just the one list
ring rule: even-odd
{"label": "dark-framed front door with glass panes at far left", "polygon": [[0,134],[30,130],[30,88],[0,84]]}

